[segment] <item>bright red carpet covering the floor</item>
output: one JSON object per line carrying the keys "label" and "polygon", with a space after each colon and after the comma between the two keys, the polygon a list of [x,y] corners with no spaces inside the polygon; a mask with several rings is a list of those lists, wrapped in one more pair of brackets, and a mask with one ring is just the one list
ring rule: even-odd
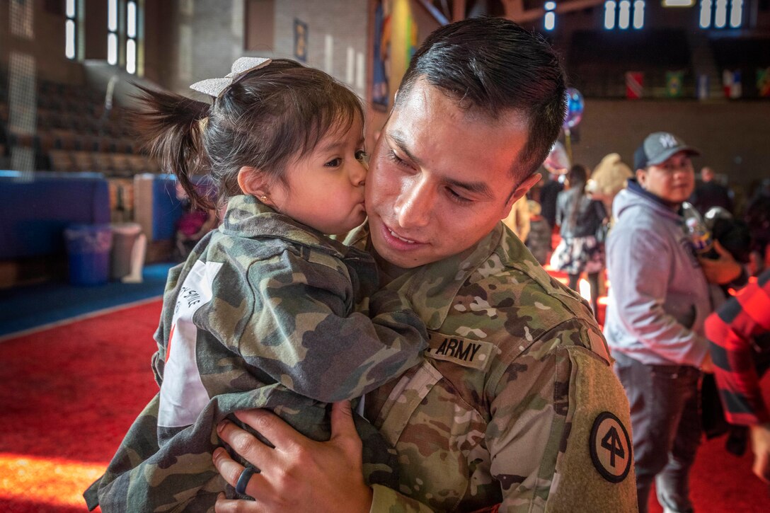
{"label": "bright red carpet covering the floor", "polygon": [[[149,359],[159,314],[153,301],[0,343],[0,511],[85,511],[82,491],[157,391]],[[696,511],[770,511],[751,463],[750,451],[726,453],[724,438],[705,442]]]}

